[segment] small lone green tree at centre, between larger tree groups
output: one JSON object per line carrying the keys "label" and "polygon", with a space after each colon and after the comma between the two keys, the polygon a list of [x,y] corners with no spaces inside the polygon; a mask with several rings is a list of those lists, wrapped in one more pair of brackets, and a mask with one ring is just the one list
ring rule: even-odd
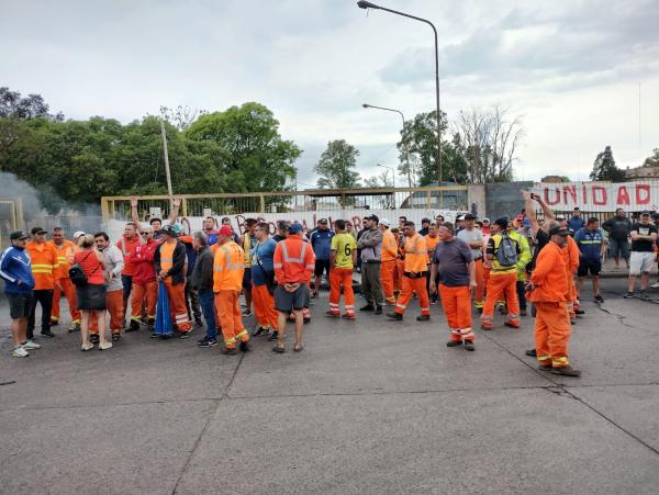
{"label": "small lone green tree at centre, between larger tree groups", "polygon": [[319,188],[359,188],[359,172],[355,170],[358,156],[359,150],[346,143],[345,139],[327,143],[327,149],[323,151],[321,159],[313,168],[321,176],[317,182]]}

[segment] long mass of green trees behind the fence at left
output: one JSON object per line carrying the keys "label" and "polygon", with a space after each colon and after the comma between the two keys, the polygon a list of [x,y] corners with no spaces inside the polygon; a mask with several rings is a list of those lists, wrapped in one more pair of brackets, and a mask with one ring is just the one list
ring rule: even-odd
{"label": "long mass of green trees behind the fence at left", "polygon": [[[185,132],[181,122],[165,122],[175,194],[283,191],[295,177],[301,150],[281,139],[261,104],[203,114]],[[49,210],[102,195],[167,193],[158,117],[127,125],[101,116],[64,121],[48,114],[40,95],[21,99],[7,88],[0,88],[0,170],[35,187]]]}

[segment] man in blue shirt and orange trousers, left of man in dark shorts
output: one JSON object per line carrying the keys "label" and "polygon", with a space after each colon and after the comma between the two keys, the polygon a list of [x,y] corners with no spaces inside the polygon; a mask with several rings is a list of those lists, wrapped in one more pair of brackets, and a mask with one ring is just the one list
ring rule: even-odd
{"label": "man in blue shirt and orange trousers, left of man in dark shorts", "polygon": [[259,222],[254,232],[256,246],[252,249],[252,302],[258,328],[254,337],[277,331],[277,310],[275,310],[275,248],[277,241],[270,238],[270,224]]}

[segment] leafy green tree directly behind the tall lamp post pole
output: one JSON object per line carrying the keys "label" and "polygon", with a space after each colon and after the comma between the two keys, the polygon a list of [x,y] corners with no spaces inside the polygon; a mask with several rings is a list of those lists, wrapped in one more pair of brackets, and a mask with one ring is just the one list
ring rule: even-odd
{"label": "leafy green tree directly behind the tall lamp post pole", "polygon": [[[439,122],[442,135],[446,135],[446,113]],[[396,144],[401,165],[399,171],[407,178],[407,184],[429,185],[437,183],[437,111],[418,113],[405,122],[401,140]],[[453,143],[442,140],[442,180],[463,183],[467,180],[467,161]]]}

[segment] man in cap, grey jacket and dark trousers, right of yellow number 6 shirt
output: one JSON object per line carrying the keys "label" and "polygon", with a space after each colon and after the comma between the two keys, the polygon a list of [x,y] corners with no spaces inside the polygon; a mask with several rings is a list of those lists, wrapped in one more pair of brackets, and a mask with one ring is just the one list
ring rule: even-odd
{"label": "man in cap, grey jacket and dark trousers, right of yellow number 6 shirt", "polygon": [[375,311],[382,314],[382,278],[380,265],[382,262],[382,232],[378,228],[380,218],[377,215],[364,217],[366,228],[357,240],[357,248],[361,249],[361,294],[366,306],[359,311]]}

